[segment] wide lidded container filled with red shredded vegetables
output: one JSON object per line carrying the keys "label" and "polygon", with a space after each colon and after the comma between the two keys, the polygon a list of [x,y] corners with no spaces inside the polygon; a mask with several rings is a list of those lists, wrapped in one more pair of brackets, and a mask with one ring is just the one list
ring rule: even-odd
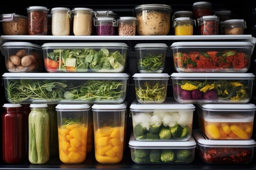
{"label": "wide lidded container filled with red shredded vegetables", "polygon": [[174,68],[178,72],[247,72],[251,42],[174,42]]}

